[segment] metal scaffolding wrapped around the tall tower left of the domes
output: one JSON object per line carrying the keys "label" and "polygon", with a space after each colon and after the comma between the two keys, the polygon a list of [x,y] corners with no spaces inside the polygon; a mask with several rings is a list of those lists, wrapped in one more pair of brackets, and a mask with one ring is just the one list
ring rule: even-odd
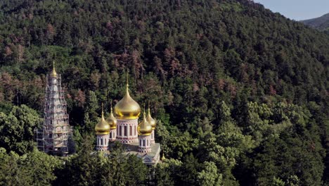
{"label": "metal scaffolding wrapped around the tall tower left of the domes", "polygon": [[44,123],[36,130],[37,147],[47,154],[66,156],[71,148],[72,127],[68,122],[65,90],[59,74],[47,75],[46,81]]}

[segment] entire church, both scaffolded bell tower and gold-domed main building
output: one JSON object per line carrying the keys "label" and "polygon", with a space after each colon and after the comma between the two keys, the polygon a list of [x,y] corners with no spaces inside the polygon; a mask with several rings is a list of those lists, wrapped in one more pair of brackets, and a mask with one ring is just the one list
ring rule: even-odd
{"label": "entire church, both scaffolded bell tower and gold-domed main building", "polygon": [[[47,154],[67,156],[74,151],[74,145],[70,145],[72,139],[72,127],[68,123],[67,104],[64,90],[61,85],[61,76],[56,73],[55,66],[50,74],[47,74],[44,124],[35,130],[37,135],[37,147]],[[111,144],[115,141],[123,144],[125,154],[134,154],[143,160],[148,166],[153,166],[160,161],[160,144],[155,142],[156,122],[150,115],[129,95],[127,77],[126,92],[124,97],[117,102],[110,116],[104,118],[103,105],[101,121],[96,124],[97,135],[96,150],[110,151]]]}

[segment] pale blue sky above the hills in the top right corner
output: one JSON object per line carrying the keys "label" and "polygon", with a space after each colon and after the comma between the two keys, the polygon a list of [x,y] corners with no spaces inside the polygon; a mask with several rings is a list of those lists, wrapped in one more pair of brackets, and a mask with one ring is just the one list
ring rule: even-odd
{"label": "pale blue sky above the hills in the top right corner", "polygon": [[318,18],[329,13],[329,0],[254,0],[293,20]]}

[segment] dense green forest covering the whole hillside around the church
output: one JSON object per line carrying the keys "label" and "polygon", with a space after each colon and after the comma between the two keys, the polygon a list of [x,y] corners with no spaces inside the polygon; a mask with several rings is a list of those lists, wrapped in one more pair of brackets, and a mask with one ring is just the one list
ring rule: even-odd
{"label": "dense green forest covering the whole hillside around the church", "polygon": [[[329,185],[329,35],[249,0],[1,0],[0,185]],[[56,63],[76,153],[38,151]],[[166,159],[94,153],[150,102]],[[150,173],[155,173],[150,178]]]}

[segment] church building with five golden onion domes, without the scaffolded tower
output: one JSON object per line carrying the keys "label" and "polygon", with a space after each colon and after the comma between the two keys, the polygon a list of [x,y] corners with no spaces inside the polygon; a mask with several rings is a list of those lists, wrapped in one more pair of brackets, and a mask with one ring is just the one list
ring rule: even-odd
{"label": "church building with five golden onion domes, without the scaffolded tower", "polygon": [[143,160],[148,166],[155,165],[160,161],[160,144],[155,142],[156,122],[150,115],[143,111],[141,107],[130,97],[129,84],[127,78],[126,92],[124,97],[115,104],[114,113],[111,106],[110,116],[104,118],[103,105],[101,121],[96,124],[97,135],[96,150],[110,150],[110,142],[120,142],[126,149],[126,154],[134,154]]}

